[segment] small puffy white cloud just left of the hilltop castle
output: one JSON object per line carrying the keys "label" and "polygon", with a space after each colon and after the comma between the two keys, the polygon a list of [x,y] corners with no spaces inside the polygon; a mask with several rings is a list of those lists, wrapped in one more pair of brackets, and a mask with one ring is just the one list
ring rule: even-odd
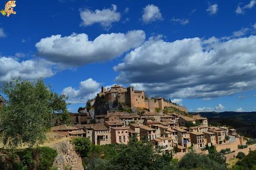
{"label": "small puffy white cloud just left of the hilltop castle", "polygon": [[80,82],[79,89],[66,87],[63,89],[62,94],[68,96],[68,102],[72,104],[86,103],[88,99],[92,99],[100,91],[100,83],[88,78]]}

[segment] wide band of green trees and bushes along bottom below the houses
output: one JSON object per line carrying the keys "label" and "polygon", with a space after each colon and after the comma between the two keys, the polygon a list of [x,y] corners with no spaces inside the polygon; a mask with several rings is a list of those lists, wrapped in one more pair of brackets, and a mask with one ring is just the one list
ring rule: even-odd
{"label": "wide band of green trees and bushes along bottom below the houses", "polygon": [[[86,169],[227,169],[225,157],[214,151],[208,155],[190,151],[180,161],[173,159],[170,153],[154,149],[150,142],[137,141],[136,136],[125,144],[106,144],[95,146],[86,140],[82,144],[78,139],[78,152],[82,156]],[[82,146],[85,147],[82,147]],[[82,153],[82,154],[81,154]],[[86,154],[85,154],[86,153]]]}

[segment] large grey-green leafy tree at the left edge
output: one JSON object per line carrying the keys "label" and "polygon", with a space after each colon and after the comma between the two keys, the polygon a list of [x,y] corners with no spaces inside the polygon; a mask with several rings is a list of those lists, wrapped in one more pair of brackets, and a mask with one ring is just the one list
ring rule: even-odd
{"label": "large grey-green leafy tree at the left edge", "polygon": [[54,111],[66,110],[66,105],[58,107],[53,104],[58,103],[57,96],[42,79],[5,82],[1,92],[7,96],[8,102],[1,108],[0,132],[3,143],[9,147],[19,144],[32,147],[36,142],[43,142]]}

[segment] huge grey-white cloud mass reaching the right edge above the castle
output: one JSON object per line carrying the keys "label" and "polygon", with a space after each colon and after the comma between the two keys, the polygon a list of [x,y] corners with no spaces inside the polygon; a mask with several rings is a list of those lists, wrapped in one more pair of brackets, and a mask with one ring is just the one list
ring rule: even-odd
{"label": "huge grey-white cloud mass reaching the right edge above the castle", "polygon": [[166,98],[211,98],[255,89],[256,36],[228,41],[150,38],[126,54],[116,81]]}

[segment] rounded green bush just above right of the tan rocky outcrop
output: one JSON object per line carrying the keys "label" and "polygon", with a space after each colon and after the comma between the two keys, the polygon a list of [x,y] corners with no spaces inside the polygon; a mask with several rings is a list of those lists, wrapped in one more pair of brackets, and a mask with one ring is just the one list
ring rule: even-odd
{"label": "rounded green bush just above right of the tan rocky outcrop", "polygon": [[92,145],[89,138],[77,137],[73,139],[72,144],[75,146],[75,151],[80,154],[80,156],[88,157],[92,151]]}

